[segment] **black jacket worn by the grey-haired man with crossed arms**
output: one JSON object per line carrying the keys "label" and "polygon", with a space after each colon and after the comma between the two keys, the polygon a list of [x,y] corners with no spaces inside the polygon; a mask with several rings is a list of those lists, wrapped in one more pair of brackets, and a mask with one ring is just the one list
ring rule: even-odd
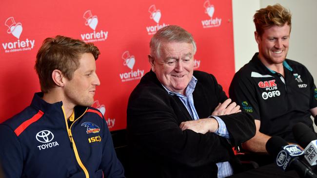
{"label": "black jacket worn by the grey-haired man with crossed arms", "polygon": [[[194,71],[198,79],[193,92],[199,118],[207,118],[218,103],[227,99],[211,74]],[[255,135],[254,118],[249,114],[220,116],[230,133],[230,143],[214,133],[181,131],[179,124],[191,121],[177,96],[163,89],[153,71],[146,73],[130,95],[127,129],[130,166],[135,178],[212,178],[216,163],[230,161],[238,172],[239,162],[232,147]]]}

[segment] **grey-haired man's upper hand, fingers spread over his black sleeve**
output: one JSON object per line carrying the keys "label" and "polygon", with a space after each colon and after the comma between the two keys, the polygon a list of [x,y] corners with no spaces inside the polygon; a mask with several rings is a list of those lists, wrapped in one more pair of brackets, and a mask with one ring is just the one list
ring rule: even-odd
{"label": "grey-haired man's upper hand, fingers spread over his black sleeve", "polygon": [[227,114],[234,114],[241,112],[240,106],[238,106],[235,102],[231,103],[231,99],[228,98],[222,104],[219,103],[218,106],[215,108],[214,112],[211,113],[212,116],[221,116]]}

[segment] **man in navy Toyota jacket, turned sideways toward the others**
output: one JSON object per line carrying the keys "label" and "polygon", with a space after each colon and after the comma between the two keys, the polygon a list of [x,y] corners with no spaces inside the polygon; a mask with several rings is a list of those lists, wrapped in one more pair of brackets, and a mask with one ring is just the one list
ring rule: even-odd
{"label": "man in navy Toyota jacket, turned sideways toward the others", "polygon": [[99,50],[65,36],[46,38],[35,69],[42,92],[0,124],[5,178],[123,178],[102,114],[90,107]]}

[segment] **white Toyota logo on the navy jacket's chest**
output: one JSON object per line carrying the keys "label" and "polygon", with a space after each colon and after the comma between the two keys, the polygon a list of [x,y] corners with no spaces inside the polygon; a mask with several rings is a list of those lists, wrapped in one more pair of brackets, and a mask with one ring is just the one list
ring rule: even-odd
{"label": "white Toyota logo on the navy jacket's chest", "polygon": [[[55,141],[55,142],[53,141],[54,134],[49,130],[42,130],[42,131],[38,132],[35,137],[36,137],[36,140],[38,140],[41,143],[44,143],[44,144],[38,146],[38,148],[40,150],[59,146],[59,143],[57,141]],[[51,142],[51,141],[53,141],[53,142]]]}

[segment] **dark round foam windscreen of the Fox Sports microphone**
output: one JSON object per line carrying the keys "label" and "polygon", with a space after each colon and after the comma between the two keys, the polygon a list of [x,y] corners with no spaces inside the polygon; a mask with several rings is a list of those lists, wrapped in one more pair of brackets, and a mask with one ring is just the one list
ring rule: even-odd
{"label": "dark round foam windscreen of the Fox Sports microphone", "polygon": [[288,143],[278,136],[271,137],[265,144],[266,151],[276,157],[282,146],[288,145]]}

